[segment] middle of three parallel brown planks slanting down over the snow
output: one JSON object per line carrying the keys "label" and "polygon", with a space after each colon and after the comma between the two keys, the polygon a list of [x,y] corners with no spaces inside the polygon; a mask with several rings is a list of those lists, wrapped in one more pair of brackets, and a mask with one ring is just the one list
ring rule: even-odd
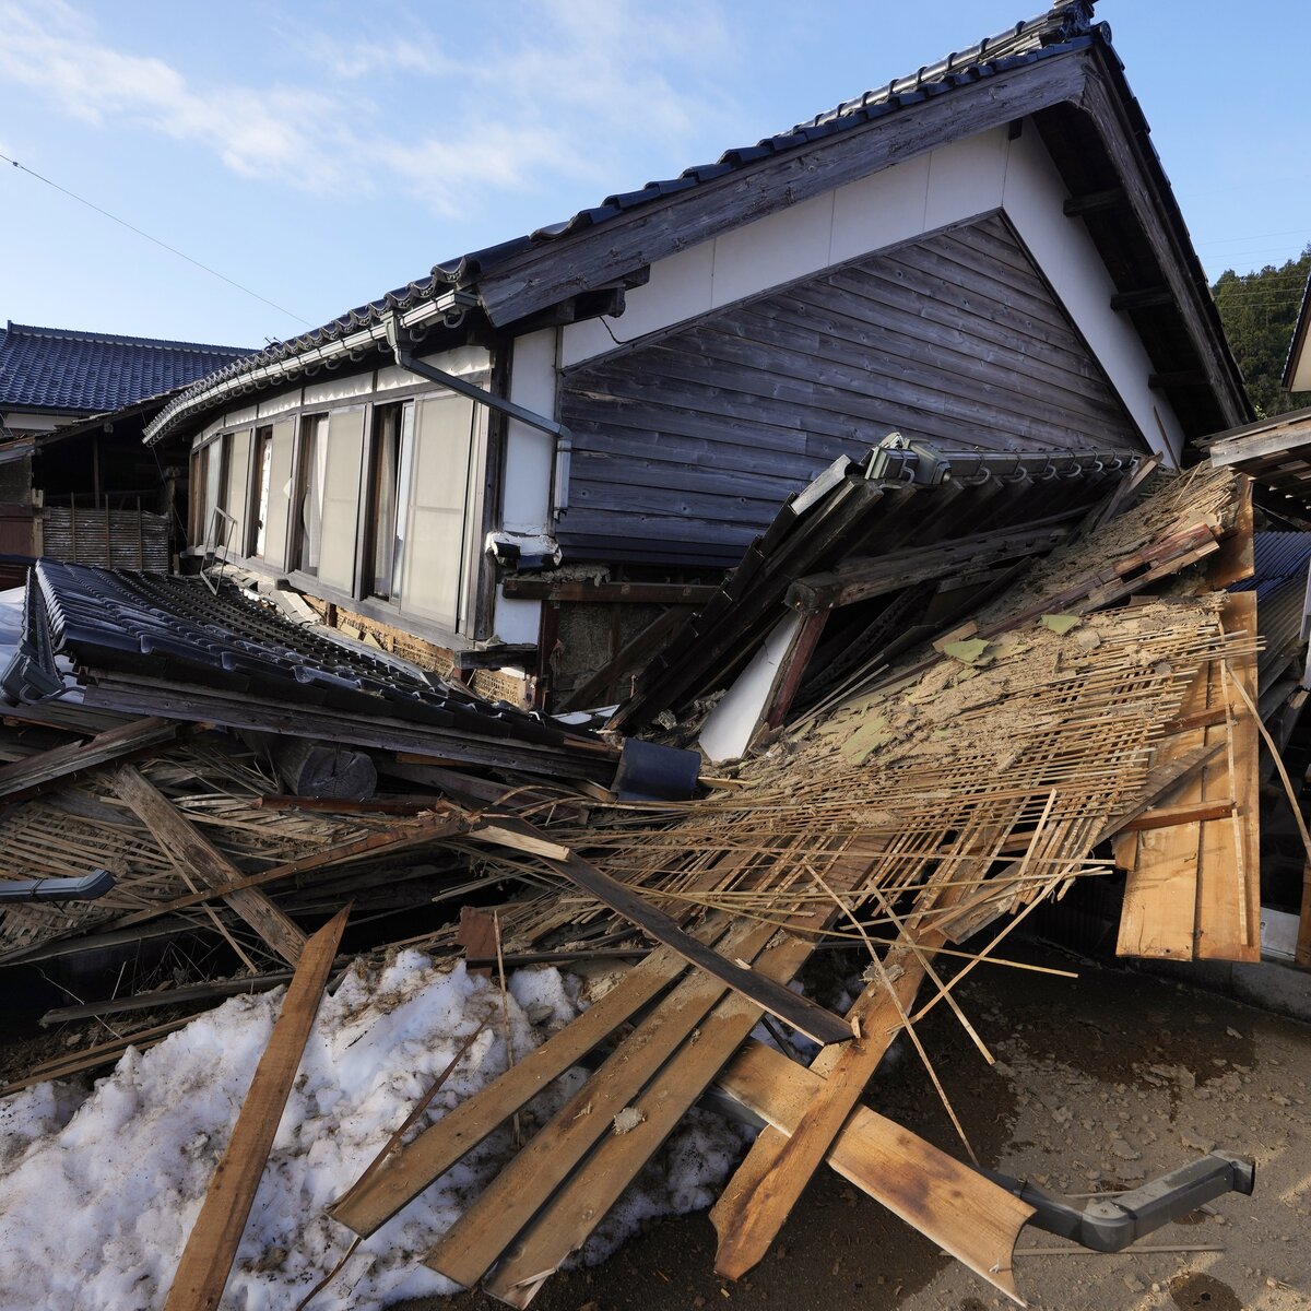
{"label": "middle of three parallel brown planks slanting down over the snow", "polygon": [[[738,922],[725,949],[753,960],[775,932],[773,924]],[[492,1180],[423,1264],[464,1287],[477,1283],[725,992],[717,978],[691,971]]]}

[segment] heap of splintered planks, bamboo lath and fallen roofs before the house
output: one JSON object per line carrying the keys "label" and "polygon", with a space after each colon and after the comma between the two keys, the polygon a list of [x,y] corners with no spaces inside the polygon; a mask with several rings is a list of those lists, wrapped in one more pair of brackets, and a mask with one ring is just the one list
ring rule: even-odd
{"label": "heap of splintered planks, bamboo lath and fallen roofs before the house", "polygon": [[[56,899],[3,902],[0,964],[181,960],[165,943],[193,957],[163,987],[47,1016],[128,1023],[9,1091],[114,1062],[101,1088],[130,1088],[197,1045],[202,1029],[177,1032],[197,1007],[288,983],[236,1126],[203,1129],[225,1155],[185,1253],[143,1257],[157,1304],[218,1304],[264,1175],[299,1201],[277,1232],[267,1207],[252,1222],[231,1287],[254,1286],[264,1244],[298,1297],[311,1274],[382,1297],[379,1269],[420,1261],[450,1283],[408,1291],[481,1285],[527,1306],[705,1108],[759,1129],[712,1210],[720,1273],[750,1270],[827,1165],[1017,1301],[1016,1238],[1070,1232],[1067,1200],[861,1095],[905,1034],[973,1159],[918,1027],[944,1007],[991,1063],[960,981],[1032,968],[1006,939],[1117,868],[1122,954],[1260,958],[1262,716],[1291,741],[1304,691],[1301,623],[1293,641],[1259,607],[1289,579],[1304,597],[1311,549],[1290,564],[1289,543],[1262,544],[1247,479],[1154,464],[905,443],[839,461],[604,733],[489,704],[231,586],[41,562],[4,678],[0,836],[5,877]],[[1286,572],[1262,593],[1268,560]],[[93,871],[113,886],[67,899]],[[831,947],[864,970],[843,1013],[793,986]],[[406,971],[446,1000],[421,1006]],[[420,1017],[456,995],[458,1024]],[[261,1027],[277,1009],[227,1006]],[[59,1129],[54,1093],[28,1096]],[[349,1145],[316,1118],[337,1103]],[[309,1160],[323,1138],[333,1169],[287,1183],[288,1135]],[[20,1143],[0,1211],[72,1142]],[[1235,1159],[1190,1168],[1173,1185],[1188,1209],[1251,1190]],[[1121,1206],[1124,1242],[1168,1218]]]}

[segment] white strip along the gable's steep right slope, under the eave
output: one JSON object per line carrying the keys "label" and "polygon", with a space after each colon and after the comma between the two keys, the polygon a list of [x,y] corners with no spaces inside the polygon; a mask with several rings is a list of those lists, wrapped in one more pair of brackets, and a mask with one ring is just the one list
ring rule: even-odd
{"label": "white strip along the gable's steep right slope, under the eave", "polygon": [[1066,218],[1062,203],[1067,197],[1037,131],[1027,123],[1020,138],[1011,142],[1006,214],[1097,357],[1143,440],[1177,465],[1183,427],[1165,396],[1147,385],[1151,359],[1129,317],[1110,308],[1116,286],[1083,220]]}

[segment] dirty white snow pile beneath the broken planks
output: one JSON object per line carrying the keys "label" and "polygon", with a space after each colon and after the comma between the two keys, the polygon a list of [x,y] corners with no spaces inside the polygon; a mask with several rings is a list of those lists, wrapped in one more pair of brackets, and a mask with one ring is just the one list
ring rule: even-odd
{"label": "dirty white snow pile beneath the broken planks", "polygon": [[[570,983],[553,969],[513,975],[517,1054],[578,1013]],[[0,1311],[163,1304],[281,1000],[281,990],[235,998],[146,1053],[128,1050],[80,1104],[51,1084],[0,1103]],[[286,1311],[337,1262],[354,1235],[325,1209],[475,1032],[420,1127],[505,1070],[499,990],[463,964],[437,966],[404,952],[379,974],[357,968],[324,999],[225,1307]],[[526,1129],[544,1122],[581,1080],[572,1072],[541,1093],[522,1117]],[[650,1217],[708,1205],[738,1150],[722,1121],[688,1117],[583,1259],[608,1255]],[[510,1154],[502,1129],[361,1244],[315,1311],[452,1291],[420,1257]]]}

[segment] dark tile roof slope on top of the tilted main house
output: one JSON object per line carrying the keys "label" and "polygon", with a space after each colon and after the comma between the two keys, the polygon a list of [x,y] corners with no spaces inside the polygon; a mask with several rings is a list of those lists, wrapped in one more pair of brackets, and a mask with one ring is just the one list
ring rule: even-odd
{"label": "dark tile roof slope on top of the tilted main house", "polygon": [[1092,4],[1093,0],[1055,0],[1053,8],[1037,18],[1017,22],[1003,33],[986,37],[966,50],[953,52],[935,64],[920,67],[906,77],[894,79],[885,87],[869,90],[855,100],[844,101],[805,123],[767,136],[755,146],[726,151],[714,164],[696,165],[684,169],[675,178],[648,182],[633,191],[607,195],[599,205],[579,210],[562,223],[538,228],[526,236],[485,246],[481,250],[471,250],[454,260],[444,260],[434,265],[427,277],[397,287],[378,300],[347,311],[321,328],[269,346],[257,355],[237,361],[211,378],[203,379],[181,397],[169,402],[160,420],[156,421],[157,427],[151,434],[151,439],[155,434],[166,430],[174,413],[185,410],[195,395],[210,387],[261,366],[291,359],[362,328],[376,325],[384,315],[392,311],[404,313],[443,291],[472,288],[480,278],[494,271],[497,266],[531,252],[534,248],[551,245],[564,237],[625,215],[640,206],[713,182],[768,156],[804,149],[817,140],[851,131],[863,123],[923,104],[958,87],[973,85],[1021,64],[1036,63],[1075,46],[1088,45],[1093,39],[1109,42],[1106,25],[1095,25],[1092,21]]}

